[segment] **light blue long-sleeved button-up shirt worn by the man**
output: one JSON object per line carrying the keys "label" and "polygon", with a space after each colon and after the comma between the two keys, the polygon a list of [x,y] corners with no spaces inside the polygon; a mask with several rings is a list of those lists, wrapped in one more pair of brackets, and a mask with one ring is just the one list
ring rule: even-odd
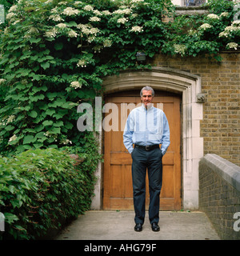
{"label": "light blue long-sleeved button-up shirt worn by the man", "polygon": [[126,120],[123,143],[131,154],[133,144],[150,146],[162,144],[162,155],[170,146],[170,129],[166,114],[154,106],[139,106],[132,110]]}

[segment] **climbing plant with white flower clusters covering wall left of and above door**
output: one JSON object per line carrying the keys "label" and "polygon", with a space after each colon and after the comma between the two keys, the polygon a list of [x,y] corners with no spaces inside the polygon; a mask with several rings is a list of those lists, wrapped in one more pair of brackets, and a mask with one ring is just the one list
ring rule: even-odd
{"label": "climbing plant with white flower clusters covering wall left of and above door", "polygon": [[84,151],[93,133],[77,129],[78,104],[94,103],[106,75],[150,68],[136,62],[138,51],[150,63],[159,51],[197,56],[238,49],[233,4],[221,14],[213,6],[195,23],[194,16],[164,23],[162,15],[174,12],[170,0],[14,3],[0,44],[1,154],[66,145]]}

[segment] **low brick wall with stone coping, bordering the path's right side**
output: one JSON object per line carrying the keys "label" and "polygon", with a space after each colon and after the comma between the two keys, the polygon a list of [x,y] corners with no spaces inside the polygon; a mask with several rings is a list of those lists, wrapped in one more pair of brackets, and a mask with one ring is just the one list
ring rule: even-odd
{"label": "low brick wall with stone coping, bordering the path's right side", "polygon": [[[217,155],[202,158],[199,162],[199,209],[210,218],[220,238],[240,239],[240,167]],[[234,218],[235,213],[238,219]],[[238,229],[234,230],[234,222]]]}

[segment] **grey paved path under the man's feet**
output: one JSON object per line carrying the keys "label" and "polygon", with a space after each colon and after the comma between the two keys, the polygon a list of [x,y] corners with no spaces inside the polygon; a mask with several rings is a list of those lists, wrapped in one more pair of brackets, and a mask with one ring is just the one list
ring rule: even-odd
{"label": "grey paved path under the man's feet", "polygon": [[160,232],[146,220],[134,231],[133,211],[90,210],[70,223],[55,240],[220,240],[202,212],[160,212]]}

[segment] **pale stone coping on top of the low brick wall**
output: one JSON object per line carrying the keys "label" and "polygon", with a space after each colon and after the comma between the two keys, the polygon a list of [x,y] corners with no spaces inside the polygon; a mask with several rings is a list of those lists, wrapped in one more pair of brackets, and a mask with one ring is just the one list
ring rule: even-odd
{"label": "pale stone coping on top of the low brick wall", "polygon": [[200,161],[240,191],[240,167],[217,154],[206,154]]}

